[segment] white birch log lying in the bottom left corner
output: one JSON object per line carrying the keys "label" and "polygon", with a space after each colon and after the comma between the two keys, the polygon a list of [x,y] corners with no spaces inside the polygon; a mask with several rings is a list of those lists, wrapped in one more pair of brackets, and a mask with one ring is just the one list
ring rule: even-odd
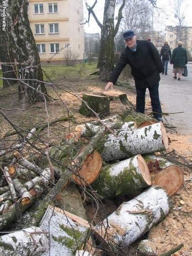
{"label": "white birch log lying in the bottom left corner", "polygon": [[35,256],[49,249],[46,234],[38,227],[0,236],[0,255],[2,256]]}

